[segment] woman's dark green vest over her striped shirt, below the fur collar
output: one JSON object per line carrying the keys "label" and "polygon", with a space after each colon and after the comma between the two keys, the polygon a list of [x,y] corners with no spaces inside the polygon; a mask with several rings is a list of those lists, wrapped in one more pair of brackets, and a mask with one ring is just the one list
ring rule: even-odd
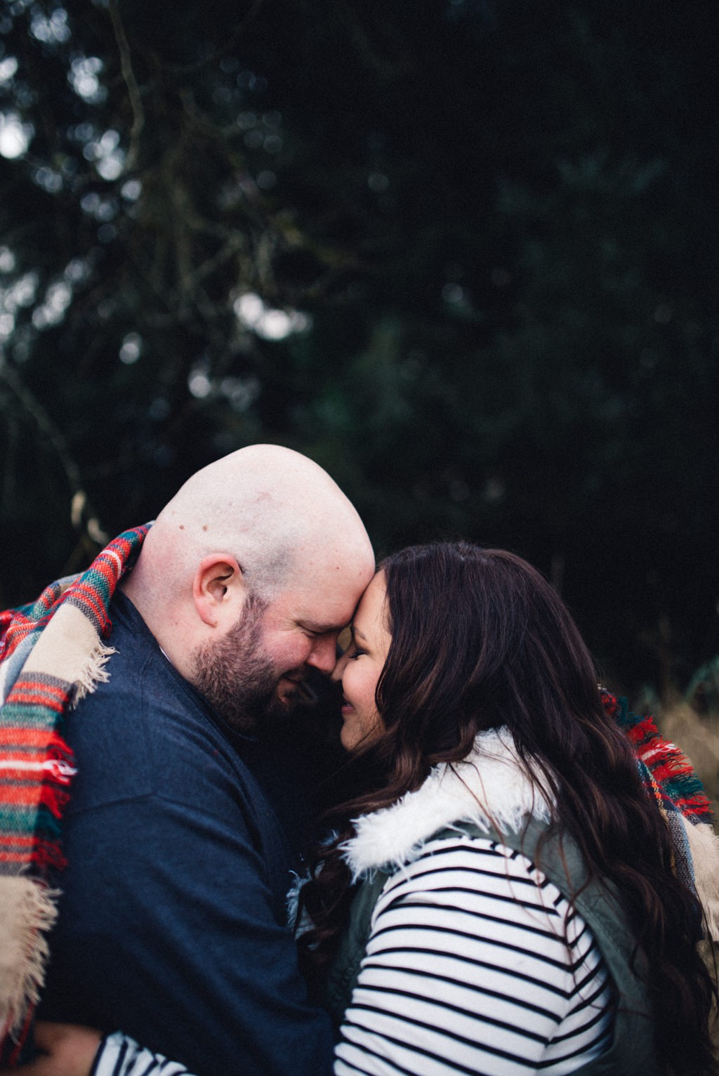
{"label": "woman's dark green vest over her striped shirt, below the fur collar", "polygon": [[[532,862],[537,862],[537,844],[547,834],[547,827],[536,819],[528,819],[522,833],[485,833],[477,826],[462,822],[433,835],[450,837],[457,831],[473,837],[491,837]],[[542,873],[560,892],[569,898],[583,883],[587,872],[579,849],[568,835],[562,847],[559,838],[550,836],[539,848],[538,862]],[[339,1025],[344,1009],[352,999],[352,990],[365,955],[372,910],[387,878],[394,870],[377,870],[360,886],[350,910],[350,922],[329,972],[325,1004]],[[638,953],[632,967],[634,938],[624,922],[611,888],[594,879],[575,898],[575,907],[591,929],[617,991],[618,1005],[614,1039],[609,1049],[576,1071],[574,1076],[658,1076],[653,1050],[653,1025],[647,991],[639,975],[646,974],[646,960]]]}

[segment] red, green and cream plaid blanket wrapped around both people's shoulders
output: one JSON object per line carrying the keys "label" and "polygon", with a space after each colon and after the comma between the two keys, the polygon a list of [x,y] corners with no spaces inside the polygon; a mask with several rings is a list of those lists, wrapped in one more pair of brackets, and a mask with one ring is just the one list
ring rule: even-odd
{"label": "red, green and cream plaid blanket wrapped around both people's shoulders", "polygon": [[[107,680],[109,606],[149,525],[126,530],[81,576],[47,586],[34,605],[0,613],[0,1060],[14,1064],[28,1037],[57,917],[51,877],[65,866],[62,811],[75,774],[64,739],[74,703]],[[694,881],[719,936],[719,853],[709,802],[691,763],[653,719],[603,691],[633,744],[648,792],[675,836],[677,869]],[[683,825],[681,817],[689,825]],[[705,892],[703,892],[705,891]],[[710,892],[709,892],[710,891]],[[709,892],[707,902],[706,893]],[[714,931],[713,931],[714,933]]]}

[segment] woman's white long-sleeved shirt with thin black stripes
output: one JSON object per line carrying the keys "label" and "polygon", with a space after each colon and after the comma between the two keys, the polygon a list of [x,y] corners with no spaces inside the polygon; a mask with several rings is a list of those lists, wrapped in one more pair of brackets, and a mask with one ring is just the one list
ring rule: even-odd
{"label": "woman's white long-sleeved shirt with thin black stripes", "polygon": [[[591,931],[530,860],[431,840],[376,905],[335,1076],[564,1076],[608,1048],[611,1003]],[[93,1076],[186,1074],[111,1036]]]}

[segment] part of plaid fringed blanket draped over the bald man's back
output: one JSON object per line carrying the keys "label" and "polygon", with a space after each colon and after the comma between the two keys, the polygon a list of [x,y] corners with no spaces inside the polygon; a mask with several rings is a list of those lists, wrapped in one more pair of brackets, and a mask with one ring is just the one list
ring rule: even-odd
{"label": "part of plaid fringed blanket draped over the bald man's back", "polygon": [[110,599],[149,526],[115,538],[81,576],[0,613],[0,1058],[14,1063],[44,981],[65,866],[62,810],[75,773],[68,711],[105,680]]}

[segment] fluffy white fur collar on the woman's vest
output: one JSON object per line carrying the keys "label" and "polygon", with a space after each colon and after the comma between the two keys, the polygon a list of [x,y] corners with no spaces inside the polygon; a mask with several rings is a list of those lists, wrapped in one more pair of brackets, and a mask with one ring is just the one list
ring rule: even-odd
{"label": "fluffy white fur collar on the woman's vest", "polygon": [[525,815],[549,821],[549,807],[520,767],[508,728],[480,733],[462,762],[435,766],[424,784],[382,810],[355,820],[344,859],[353,879],[376,867],[411,863],[433,833],[454,822],[489,832],[519,831]]}

